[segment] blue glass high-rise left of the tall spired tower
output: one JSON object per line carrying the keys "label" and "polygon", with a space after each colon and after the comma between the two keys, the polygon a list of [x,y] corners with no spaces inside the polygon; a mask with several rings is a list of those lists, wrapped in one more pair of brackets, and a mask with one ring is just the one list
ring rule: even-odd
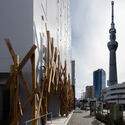
{"label": "blue glass high-rise left of the tall spired tower", "polygon": [[106,73],[103,69],[93,72],[94,97],[99,98],[101,91],[106,87]]}

